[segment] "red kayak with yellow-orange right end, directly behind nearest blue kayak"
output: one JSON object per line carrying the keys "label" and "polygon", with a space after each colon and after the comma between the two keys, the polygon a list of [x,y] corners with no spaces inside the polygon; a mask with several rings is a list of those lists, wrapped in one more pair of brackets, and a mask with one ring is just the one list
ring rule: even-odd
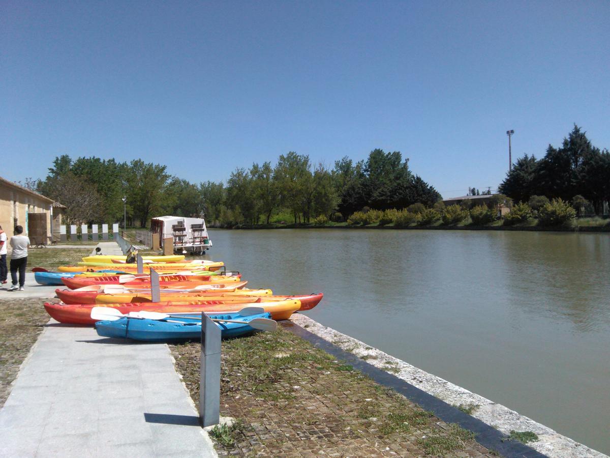
{"label": "red kayak with yellow-orange right end, directly behind nearest blue kayak", "polygon": [[[278,302],[260,302],[253,306],[262,307],[265,312],[271,313],[273,319],[289,319],[290,315],[301,308],[300,300],[280,300]],[[93,324],[96,320],[91,318],[93,304],[65,305],[49,304],[45,302],[45,310],[51,318],[61,323]],[[158,311],[160,313],[201,313],[230,312],[248,307],[248,304],[198,304],[197,302],[144,302],[142,304],[105,304],[104,307],[116,308],[121,313],[131,311]]]}

